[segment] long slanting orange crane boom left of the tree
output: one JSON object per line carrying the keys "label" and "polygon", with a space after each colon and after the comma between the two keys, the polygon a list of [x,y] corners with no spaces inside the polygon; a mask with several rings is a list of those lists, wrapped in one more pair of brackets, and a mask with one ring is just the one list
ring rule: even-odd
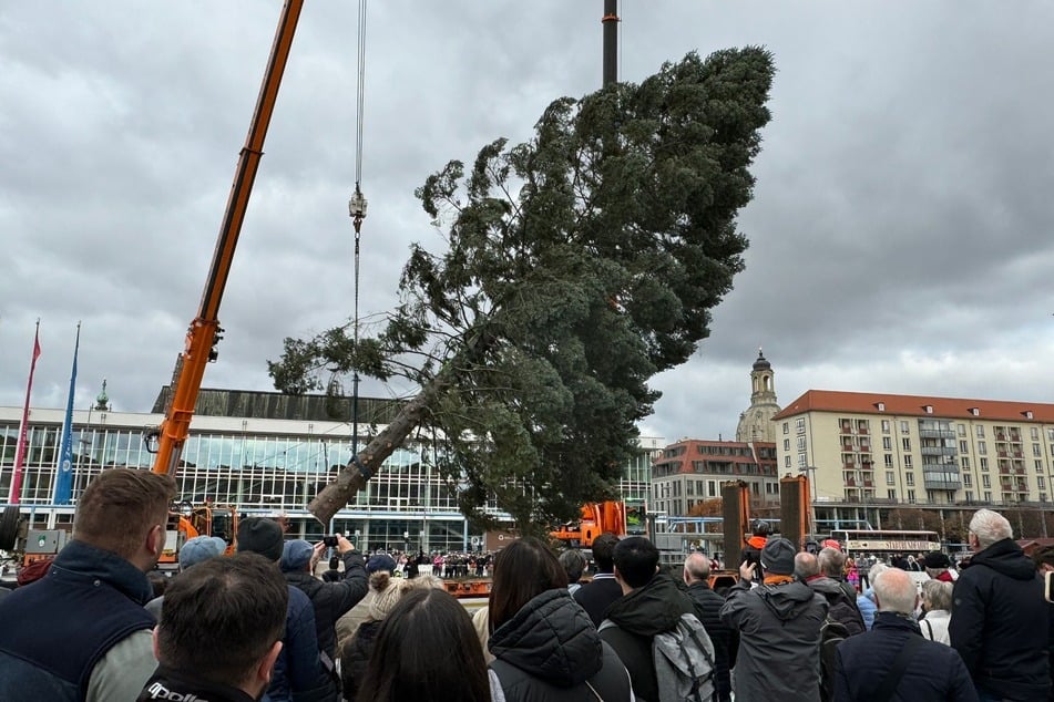
{"label": "long slanting orange crane boom left of the tree", "polygon": [[223,338],[218,319],[219,302],[227,283],[227,275],[231,272],[231,262],[238,244],[238,235],[242,233],[242,224],[245,221],[245,211],[248,207],[249,195],[253,193],[259,161],[264,155],[264,140],[267,136],[267,127],[278,96],[278,86],[282,84],[282,75],[289,58],[293,35],[296,33],[303,6],[304,0],[286,0],[278,19],[267,71],[264,73],[264,81],[256,101],[256,111],[249,123],[245,146],[238,155],[234,184],[231,186],[231,195],[216,240],[216,250],[205,280],[202,303],[197,310],[197,317],[187,329],[183,353],[176,359],[165,419],[161,426],[146,436],[149,450],[152,448],[153,440],[156,440],[157,455],[154,458],[154,473],[175,476],[183,455],[183,444],[190,435],[194,405],[202,388],[202,379],[205,376],[205,364],[216,360],[216,344]]}

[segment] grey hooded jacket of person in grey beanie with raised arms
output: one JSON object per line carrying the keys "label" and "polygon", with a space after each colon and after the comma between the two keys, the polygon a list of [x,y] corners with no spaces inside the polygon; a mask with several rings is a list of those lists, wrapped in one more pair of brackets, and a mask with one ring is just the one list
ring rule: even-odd
{"label": "grey hooded jacket of person in grey beanie with raised arms", "polygon": [[827,600],[804,582],[760,585],[740,580],[728,590],[722,619],[739,631],[733,671],[736,699],[820,699],[820,627]]}

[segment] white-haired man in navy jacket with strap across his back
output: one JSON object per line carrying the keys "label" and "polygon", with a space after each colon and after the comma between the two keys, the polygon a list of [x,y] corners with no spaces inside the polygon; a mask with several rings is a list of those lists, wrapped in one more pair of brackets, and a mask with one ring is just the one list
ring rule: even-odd
{"label": "white-haired man in navy jacket with strap across his back", "polygon": [[907,650],[899,680],[889,682],[892,691],[888,700],[975,702],[978,693],[959,653],[922,638],[912,617],[919,591],[911,576],[890,568],[876,576],[872,588],[878,605],[874,626],[838,647],[835,700],[871,699],[882,689],[901,651]]}

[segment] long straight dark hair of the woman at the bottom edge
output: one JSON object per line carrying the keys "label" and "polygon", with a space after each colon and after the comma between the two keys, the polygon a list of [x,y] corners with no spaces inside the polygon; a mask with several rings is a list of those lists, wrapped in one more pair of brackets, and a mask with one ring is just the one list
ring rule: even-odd
{"label": "long straight dark hair of the woman at the bottom edge", "polygon": [[380,626],[357,700],[492,702],[483,649],[461,603],[446,590],[407,591]]}

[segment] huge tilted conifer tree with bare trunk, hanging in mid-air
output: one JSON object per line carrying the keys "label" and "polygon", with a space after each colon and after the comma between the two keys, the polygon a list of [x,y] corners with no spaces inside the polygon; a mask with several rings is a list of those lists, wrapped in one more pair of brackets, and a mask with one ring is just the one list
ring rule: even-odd
{"label": "huge tilted conifer tree with bare trunk, hanging in mid-air", "polygon": [[526,143],[451,161],[417,197],[446,250],[413,245],[385,324],[286,339],[275,386],[401,376],[420,389],[309,505],[323,523],[421,425],[462,512],[521,529],[612,494],[658,393],[743,270],[736,217],[775,68],[760,48],[690,53],[639,85],[553,102]]}

